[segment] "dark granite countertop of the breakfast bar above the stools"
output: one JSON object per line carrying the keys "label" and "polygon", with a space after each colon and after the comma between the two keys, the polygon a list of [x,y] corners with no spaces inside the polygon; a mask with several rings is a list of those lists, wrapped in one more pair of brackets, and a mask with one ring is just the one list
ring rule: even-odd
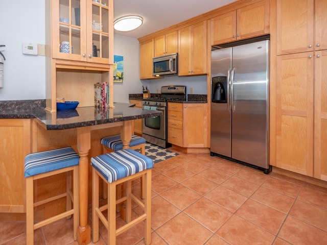
{"label": "dark granite countertop of the breakfast bar above the stools", "polygon": [[0,102],[0,119],[38,118],[46,129],[60,130],[161,115],[161,111],[133,108],[133,104],[128,103],[114,103],[114,108],[101,111],[94,107],[77,107],[76,110],[58,110],[51,113],[44,110],[43,103],[36,103],[42,106],[37,107],[32,105],[33,101],[26,101],[25,105],[19,102],[19,106],[14,102]]}

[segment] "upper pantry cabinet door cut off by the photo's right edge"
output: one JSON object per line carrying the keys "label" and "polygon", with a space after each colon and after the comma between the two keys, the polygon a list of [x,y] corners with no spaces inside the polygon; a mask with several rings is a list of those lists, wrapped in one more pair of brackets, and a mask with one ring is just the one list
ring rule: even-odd
{"label": "upper pantry cabinet door cut off by the photo's right edge", "polygon": [[327,0],[315,1],[315,50],[327,49]]}

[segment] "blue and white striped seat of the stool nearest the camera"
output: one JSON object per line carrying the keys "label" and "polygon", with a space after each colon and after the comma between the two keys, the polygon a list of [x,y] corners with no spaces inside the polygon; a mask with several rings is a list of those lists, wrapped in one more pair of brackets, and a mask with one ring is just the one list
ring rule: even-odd
{"label": "blue and white striped seat of the stool nearest the camera", "polygon": [[120,150],[91,158],[91,165],[109,182],[153,168],[151,158],[131,149]]}

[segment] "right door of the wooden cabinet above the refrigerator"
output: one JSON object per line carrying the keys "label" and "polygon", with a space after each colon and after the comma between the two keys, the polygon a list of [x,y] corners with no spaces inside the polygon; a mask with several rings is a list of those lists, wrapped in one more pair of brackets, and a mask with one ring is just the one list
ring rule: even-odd
{"label": "right door of the wooden cabinet above the refrigerator", "polygon": [[269,2],[261,1],[237,10],[237,39],[269,33]]}

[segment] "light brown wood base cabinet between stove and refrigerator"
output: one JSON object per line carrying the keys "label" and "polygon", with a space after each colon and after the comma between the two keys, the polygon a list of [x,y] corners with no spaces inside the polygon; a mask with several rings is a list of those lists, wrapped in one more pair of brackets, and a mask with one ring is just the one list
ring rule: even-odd
{"label": "light brown wood base cabinet between stove and refrigerator", "polygon": [[183,148],[206,148],[207,104],[168,103],[168,142]]}

